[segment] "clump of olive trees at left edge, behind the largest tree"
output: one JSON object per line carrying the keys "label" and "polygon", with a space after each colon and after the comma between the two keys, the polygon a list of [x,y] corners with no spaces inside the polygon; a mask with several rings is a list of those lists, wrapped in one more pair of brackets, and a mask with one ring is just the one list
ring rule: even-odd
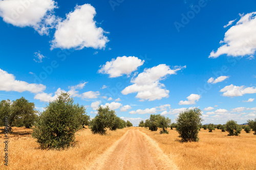
{"label": "clump of olive trees at left edge, behind the largest tree", "polygon": [[29,102],[25,98],[15,101],[2,100],[0,102],[0,126],[4,125],[5,117],[8,117],[8,126],[30,128],[38,119],[39,112],[35,109],[35,104]]}

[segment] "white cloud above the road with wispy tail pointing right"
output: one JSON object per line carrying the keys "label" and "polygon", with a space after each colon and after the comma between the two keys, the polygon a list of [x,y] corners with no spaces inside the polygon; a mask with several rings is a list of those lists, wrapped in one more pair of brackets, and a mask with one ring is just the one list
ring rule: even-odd
{"label": "white cloud above the road with wispy tail pointing right", "polygon": [[136,98],[148,101],[160,100],[167,98],[169,90],[163,89],[164,84],[159,81],[164,80],[168,75],[174,75],[178,70],[185,68],[186,66],[175,66],[176,69],[170,69],[165,64],[160,64],[152,68],[146,68],[131,82],[134,83],[131,86],[122,90],[122,94],[136,93]]}

